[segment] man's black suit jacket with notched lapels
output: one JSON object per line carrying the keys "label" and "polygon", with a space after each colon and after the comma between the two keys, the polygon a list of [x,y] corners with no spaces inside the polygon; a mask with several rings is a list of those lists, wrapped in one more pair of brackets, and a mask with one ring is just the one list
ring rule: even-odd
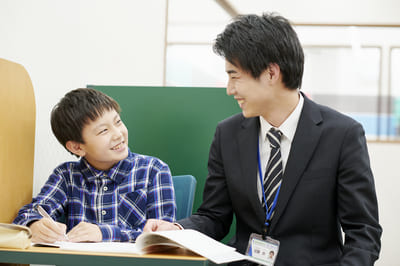
{"label": "man's black suit jacket with notched lapels", "polygon": [[[259,128],[258,117],[242,114],[219,123],[203,203],[179,221],[220,240],[234,214],[230,244],[241,253],[265,221],[257,193]],[[362,126],[304,96],[271,222],[270,236],[280,241],[275,265],[373,265],[381,233]]]}

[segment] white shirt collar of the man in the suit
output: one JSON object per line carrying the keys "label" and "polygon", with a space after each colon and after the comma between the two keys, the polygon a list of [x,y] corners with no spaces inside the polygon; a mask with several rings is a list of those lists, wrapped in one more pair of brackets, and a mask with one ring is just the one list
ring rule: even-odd
{"label": "white shirt collar of the man in the suit", "polygon": [[[299,93],[299,102],[297,103],[296,108],[289,115],[288,118],[282,123],[282,125],[278,128],[282,135],[285,136],[290,142],[292,142],[294,138],[294,134],[296,133],[297,124],[300,120],[301,110],[303,109],[304,98],[301,93]],[[267,120],[265,120],[262,116],[260,116],[260,125],[261,125],[261,136],[263,140],[265,140],[267,136],[267,132],[273,127]]]}

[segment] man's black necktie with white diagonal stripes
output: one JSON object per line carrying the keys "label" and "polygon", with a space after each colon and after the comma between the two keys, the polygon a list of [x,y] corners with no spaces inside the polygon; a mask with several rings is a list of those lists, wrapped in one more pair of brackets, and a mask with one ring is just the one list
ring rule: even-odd
{"label": "man's black necktie with white diagonal stripes", "polygon": [[[264,176],[264,192],[267,200],[268,211],[274,202],[278,187],[282,183],[282,157],[281,157],[281,136],[282,132],[276,128],[271,128],[267,133],[267,138],[271,147],[267,171]],[[265,203],[264,203],[265,204]],[[264,205],[265,206],[265,205]],[[273,217],[273,213],[271,218]]]}

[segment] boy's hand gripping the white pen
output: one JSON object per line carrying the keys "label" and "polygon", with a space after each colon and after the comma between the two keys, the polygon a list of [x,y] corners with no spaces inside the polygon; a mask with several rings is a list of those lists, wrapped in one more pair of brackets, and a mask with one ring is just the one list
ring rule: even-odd
{"label": "boy's hand gripping the white pen", "polygon": [[33,222],[29,228],[32,231],[33,243],[54,243],[65,240],[67,226],[54,222],[48,218],[42,218]]}

